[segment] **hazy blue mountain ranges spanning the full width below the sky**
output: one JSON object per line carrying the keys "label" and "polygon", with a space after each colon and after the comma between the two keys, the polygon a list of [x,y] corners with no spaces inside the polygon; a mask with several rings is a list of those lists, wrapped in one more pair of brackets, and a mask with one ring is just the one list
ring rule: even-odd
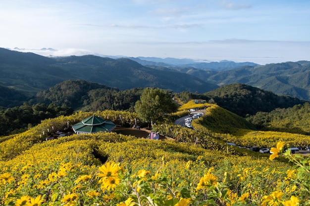
{"label": "hazy blue mountain ranges spanning the full width below the sky", "polygon": [[[51,48],[44,50],[51,50]],[[97,82],[118,89],[159,87],[205,93],[244,83],[279,95],[310,100],[310,62],[258,65],[174,58],[45,57],[0,48],[0,85],[32,94],[65,80]]]}

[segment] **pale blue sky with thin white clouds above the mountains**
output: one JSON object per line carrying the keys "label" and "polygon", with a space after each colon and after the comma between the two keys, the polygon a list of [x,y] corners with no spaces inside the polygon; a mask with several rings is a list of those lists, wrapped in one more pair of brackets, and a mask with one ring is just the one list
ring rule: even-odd
{"label": "pale blue sky with thin white clouds above the mountains", "polygon": [[310,60],[309,19],[310,0],[0,0],[0,47],[264,65]]}

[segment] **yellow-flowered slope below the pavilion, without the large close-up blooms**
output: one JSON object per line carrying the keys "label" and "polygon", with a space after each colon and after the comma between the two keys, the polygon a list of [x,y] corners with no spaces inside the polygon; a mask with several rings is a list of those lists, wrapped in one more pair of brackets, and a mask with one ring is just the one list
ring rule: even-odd
{"label": "yellow-flowered slope below the pavilion, without the large close-up blooms", "polygon": [[[116,162],[126,172],[126,176],[122,177],[123,185],[115,191],[104,190],[96,176],[101,172],[99,167],[105,161]],[[106,202],[106,205],[112,206],[126,200],[123,195],[127,194],[127,187],[134,187],[136,191],[139,187],[143,188],[142,184],[137,186],[137,177],[143,170],[150,173],[148,178],[159,176],[160,181],[152,191],[141,189],[141,193],[146,195],[146,192],[160,191],[162,187],[168,192],[170,190],[165,189],[166,187],[173,191],[186,189],[195,194],[200,178],[209,170],[218,177],[218,181],[224,182],[227,175],[227,188],[242,191],[246,187],[247,191],[256,191],[255,197],[259,200],[265,193],[274,190],[273,187],[258,189],[261,182],[268,184],[284,179],[288,168],[289,165],[267,161],[266,157],[258,159],[228,155],[189,143],[136,139],[116,133],[80,134],[35,143],[15,158],[0,161],[1,173],[13,178],[9,184],[0,184],[0,195],[4,197],[4,193],[8,191],[14,194],[1,200],[3,205],[17,203],[18,198],[25,194],[34,198],[44,195],[47,204],[60,205],[67,201],[67,194],[74,194],[80,205],[91,206]],[[244,173],[248,170],[253,175]],[[268,176],[270,171],[273,171],[272,176]],[[125,184],[128,186],[125,187]],[[90,196],[94,191],[97,195]],[[241,196],[242,193],[236,195]],[[200,201],[204,196],[200,197],[198,194],[196,199]]]}

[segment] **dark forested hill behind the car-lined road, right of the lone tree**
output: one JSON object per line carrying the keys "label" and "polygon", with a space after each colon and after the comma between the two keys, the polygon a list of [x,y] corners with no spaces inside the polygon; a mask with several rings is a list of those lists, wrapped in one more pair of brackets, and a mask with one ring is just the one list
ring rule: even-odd
{"label": "dark forested hill behind the car-lined road, right of the lone tree", "polygon": [[291,96],[279,96],[271,91],[240,83],[221,86],[204,94],[184,91],[175,94],[175,96],[182,102],[191,99],[204,99],[208,103],[217,104],[241,117],[308,102]]}

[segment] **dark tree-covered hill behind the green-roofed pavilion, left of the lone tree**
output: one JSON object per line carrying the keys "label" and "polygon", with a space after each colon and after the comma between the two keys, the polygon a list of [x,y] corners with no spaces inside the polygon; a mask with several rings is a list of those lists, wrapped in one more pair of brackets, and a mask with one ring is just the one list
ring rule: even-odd
{"label": "dark tree-covered hill behind the green-roofed pavilion, left of the lone tree", "polygon": [[143,88],[119,90],[103,84],[82,80],[68,80],[37,93],[34,101],[45,104],[67,105],[74,110],[133,110]]}

